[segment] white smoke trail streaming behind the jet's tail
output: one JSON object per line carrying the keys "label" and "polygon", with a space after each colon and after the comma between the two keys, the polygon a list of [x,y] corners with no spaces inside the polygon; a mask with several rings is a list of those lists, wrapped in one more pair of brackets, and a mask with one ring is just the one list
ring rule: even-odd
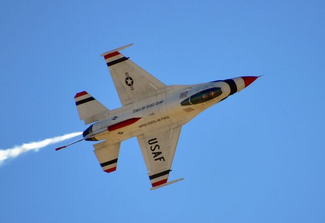
{"label": "white smoke trail streaming behind the jet's tail", "polygon": [[66,134],[63,136],[57,136],[57,137],[53,137],[50,139],[45,139],[45,140],[42,140],[39,142],[24,143],[20,146],[15,146],[15,147],[9,148],[9,149],[0,149],[0,164],[2,164],[8,158],[17,157],[18,155],[20,155],[23,152],[27,152],[29,150],[38,151],[40,148],[43,148],[45,146],[48,146],[48,145],[51,145],[54,143],[58,143],[58,142],[62,142],[64,140],[71,139],[71,138],[79,136],[81,134],[82,134],[82,132],[70,133],[70,134]]}

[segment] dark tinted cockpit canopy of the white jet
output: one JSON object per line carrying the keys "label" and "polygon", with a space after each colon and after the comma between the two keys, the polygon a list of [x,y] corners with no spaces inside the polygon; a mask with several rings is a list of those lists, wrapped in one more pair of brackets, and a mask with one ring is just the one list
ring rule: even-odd
{"label": "dark tinted cockpit canopy of the white jet", "polygon": [[220,87],[212,87],[209,89],[202,90],[196,94],[193,94],[191,97],[185,99],[181,102],[182,106],[187,105],[197,105],[207,101],[210,101],[222,94]]}

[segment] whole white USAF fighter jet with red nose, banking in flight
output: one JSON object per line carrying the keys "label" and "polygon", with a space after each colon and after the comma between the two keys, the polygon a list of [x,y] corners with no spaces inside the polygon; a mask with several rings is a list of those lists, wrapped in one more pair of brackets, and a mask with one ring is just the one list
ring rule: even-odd
{"label": "whole white USAF fighter jet with red nose, banking in flight", "polygon": [[140,68],[120,50],[103,53],[123,107],[109,110],[88,92],[76,94],[80,120],[92,123],[76,142],[101,141],[94,153],[107,172],[116,170],[122,141],[137,137],[152,188],[168,182],[182,125],[203,110],[247,87],[258,77],[236,77],[194,85],[167,86]]}

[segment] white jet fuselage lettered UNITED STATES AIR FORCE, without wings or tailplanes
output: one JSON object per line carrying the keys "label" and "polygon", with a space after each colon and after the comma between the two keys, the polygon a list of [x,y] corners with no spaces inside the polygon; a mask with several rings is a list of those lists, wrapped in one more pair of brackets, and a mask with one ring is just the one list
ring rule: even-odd
{"label": "white jet fuselage lettered UNITED STATES AIR FORCE, without wings or tailplanes", "polygon": [[[245,87],[242,78],[232,80],[237,85],[236,92]],[[217,89],[219,95],[210,93],[210,89]],[[174,129],[227,98],[231,94],[231,87],[224,81],[215,81],[196,85],[171,85],[159,91],[142,101],[111,110],[106,119],[92,125],[92,133],[97,133],[92,140],[106,139],[107,143],[115,144],[141,134]],[[206,95],[202,95],[204,93]],[[194,99],[196,95],[198,100]]]}

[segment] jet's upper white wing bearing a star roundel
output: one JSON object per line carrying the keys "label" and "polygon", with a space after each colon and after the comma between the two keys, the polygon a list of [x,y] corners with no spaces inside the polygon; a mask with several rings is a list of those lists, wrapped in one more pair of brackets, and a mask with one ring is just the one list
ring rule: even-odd
{"label": "jet's upper white wing bearing a star roundel", "polygon": [[132,44],[103,53],[121,104],[128,105],[156,94],[166,85],[119,52]]}

